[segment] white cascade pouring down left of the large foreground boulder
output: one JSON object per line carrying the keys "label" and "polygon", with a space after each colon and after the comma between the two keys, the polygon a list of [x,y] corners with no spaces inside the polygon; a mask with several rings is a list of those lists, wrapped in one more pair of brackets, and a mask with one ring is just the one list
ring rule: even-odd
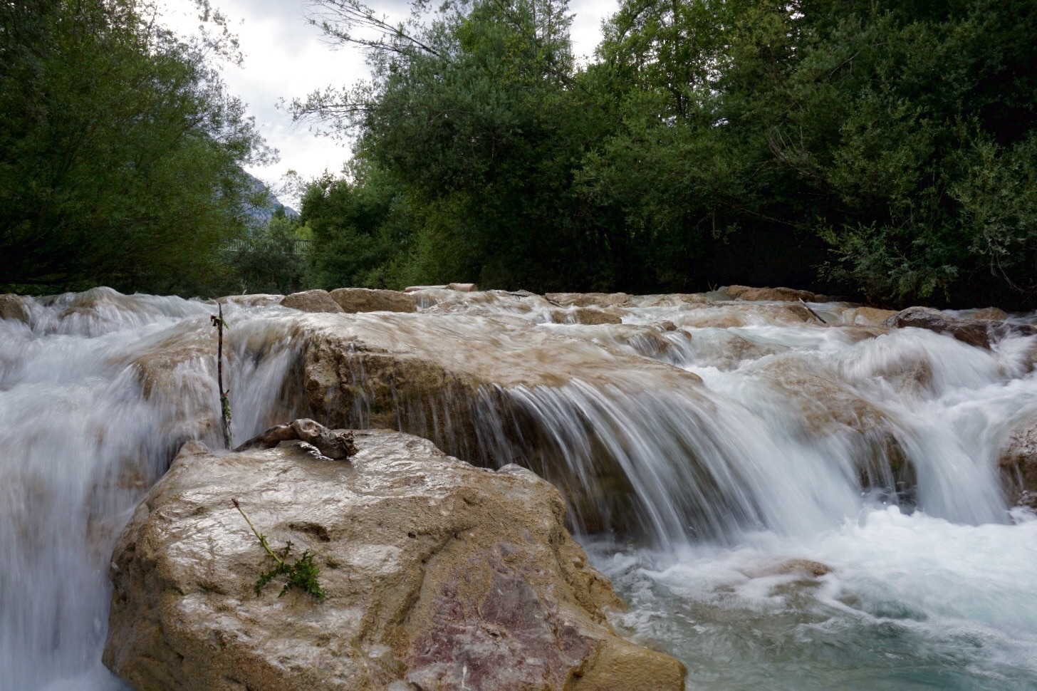
{"label": "white cascade pouring down left of the large foreground boulder", "polygon": [[[215,425],[211,305],[107,288],[0,321],[0,688],[120,688],[101,667],[112,546],[179,445]],[[284,417],[283,320],[229,310],[233,433]]]}

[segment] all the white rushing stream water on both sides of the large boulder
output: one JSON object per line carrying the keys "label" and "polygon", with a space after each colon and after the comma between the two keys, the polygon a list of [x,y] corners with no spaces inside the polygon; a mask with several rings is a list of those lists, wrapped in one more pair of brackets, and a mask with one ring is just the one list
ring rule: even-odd
{"label": "all the white rushing stream water on both sides of the large boulder", "polygon": [[[417,319],[625,354],[607,379],[487,392],[509,407],[476,402],[489,451],[470,460],[567,478],[630,605],[614,624],[690,688],[1037,689],[1037,517],[997,471],[1037,416],[1034,339],[984,351],[840,303],[811,305],[821,326],[722,298],[636,298],[585,326],[535,296],[426,292]],[[122,689],[100,662],[108,559],[178,446],[220,446],[215,307],[95,288],[26,312],[0,320],[0,689]],[[227,306],[236,440],[300,413],[298,314]],[[530,430],[536,459],[515,444]]]}

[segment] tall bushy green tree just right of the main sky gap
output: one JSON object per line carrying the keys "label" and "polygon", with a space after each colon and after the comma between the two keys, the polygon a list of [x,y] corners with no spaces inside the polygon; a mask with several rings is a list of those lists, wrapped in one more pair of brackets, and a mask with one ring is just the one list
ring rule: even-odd
{"label": "tall bushy green tree just right of the main sky gap", "polygon": [[[534,289],[613,280],[573,191],[597,120],[574,79],[564,2],[448,3],[395,27],[356,2],[318,4],[330,35],[371,51],[374,78],[311,94],[295,113],[355,134],[355,156],[421,219],[400,275]],[[357,33],[365,27],[374,37]]]}

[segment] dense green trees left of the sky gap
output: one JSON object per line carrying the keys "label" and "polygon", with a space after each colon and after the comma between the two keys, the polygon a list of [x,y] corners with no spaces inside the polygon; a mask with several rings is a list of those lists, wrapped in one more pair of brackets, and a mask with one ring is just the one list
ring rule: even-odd
{"label": "dense green trees left of the sky gap", "polygon": [[246,229],[241,166],[268,154],[213,65],[138,0],[0,3],[0,282],[204,292]]}

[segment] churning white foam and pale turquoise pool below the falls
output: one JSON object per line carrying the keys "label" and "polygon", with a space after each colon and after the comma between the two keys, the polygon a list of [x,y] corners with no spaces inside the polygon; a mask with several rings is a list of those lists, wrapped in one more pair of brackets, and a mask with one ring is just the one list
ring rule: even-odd
{"label": "churning white foam and pale turquoise pool below the falls", "polygon": [[1037,688],[1037,518],[1016,519],[879,507],[812,540],[589,552],[630,604],[615,623],[682,659],[691,688],[1022,690]]}

